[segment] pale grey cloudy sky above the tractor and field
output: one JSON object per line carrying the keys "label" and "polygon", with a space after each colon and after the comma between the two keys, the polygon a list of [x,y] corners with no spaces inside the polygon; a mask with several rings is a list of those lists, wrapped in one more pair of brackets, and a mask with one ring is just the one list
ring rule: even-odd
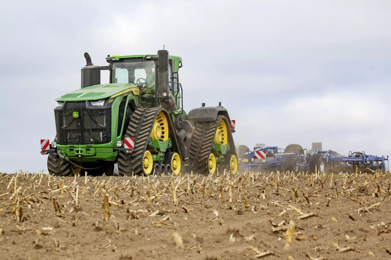
{"label": "pale grey cloudy sky above the tractor and field", "polygon": [[[0,171],[46,170],[55,98],[84,52],[183,58],[185,110],[226,107],[235,144],[391,152],[391,1],[3,1]],[[102,83],[108,75],[102,75]],[[391,154],[390,154],[391,155]]]}

